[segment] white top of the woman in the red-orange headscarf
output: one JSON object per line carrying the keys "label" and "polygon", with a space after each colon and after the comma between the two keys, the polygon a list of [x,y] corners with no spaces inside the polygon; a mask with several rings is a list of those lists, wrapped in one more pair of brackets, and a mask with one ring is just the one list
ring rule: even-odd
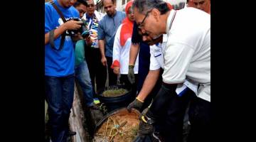
{"label": "white top of the woman in the red-orange headscarf", "polygon": [[[113,45],[113,62],[114,60],[118,60],[120,63],[120,74],[127,75],[129,68],[129,50],[132,45],[132,38],[128,38],[124,46],[122,47],[120,44],[120,33],[121,33],[121,24],[117,28],[117,33],[114,37],[114,45]],[[139,55],[137,56],[135,65],[134,65],[134,74],[138,74],[139,67]]]}

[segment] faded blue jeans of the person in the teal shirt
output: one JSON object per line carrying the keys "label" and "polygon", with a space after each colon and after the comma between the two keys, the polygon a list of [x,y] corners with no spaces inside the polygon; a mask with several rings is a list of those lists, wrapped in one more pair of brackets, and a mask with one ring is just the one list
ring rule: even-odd
{"label": "faded blue jeans of the person in the teal shirt", "polygon": [[87,107],[91,107],[93,105],[92,82],[90,80],[90,73],[85,60],[75,66],[75,79],[78,80],[82,89],[82,94],[84,95]]}

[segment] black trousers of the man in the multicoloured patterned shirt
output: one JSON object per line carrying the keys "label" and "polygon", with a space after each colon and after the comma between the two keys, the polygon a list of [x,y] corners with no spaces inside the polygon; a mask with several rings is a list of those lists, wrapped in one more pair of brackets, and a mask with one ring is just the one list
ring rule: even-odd
{"label": "black trousers of the man in the multicoloured patterned shirt", "polygon": [[[89,72],[90,72],[93,94],[95,95],[95,94],[98,94],[100,89],[105,88],[105,83],[107,80],[107,68],[102,65],[99,48],[86,47],[85,58],[87,61]],[[95,91],[95,80],[97,85],[96,91]]]}

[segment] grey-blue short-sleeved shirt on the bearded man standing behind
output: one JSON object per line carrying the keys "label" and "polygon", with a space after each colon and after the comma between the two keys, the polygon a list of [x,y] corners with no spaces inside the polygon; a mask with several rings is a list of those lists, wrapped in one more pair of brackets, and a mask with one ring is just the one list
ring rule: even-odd
{"label": "grey-blue short-sleeved shirt on the bearded man standing behind", "polygon": [[123,11],[116,11],[114,17],[105,15],[99,23],[98,40],[106,40],[105,56],[107,57],[113,55],[114,36],[125,17]]}

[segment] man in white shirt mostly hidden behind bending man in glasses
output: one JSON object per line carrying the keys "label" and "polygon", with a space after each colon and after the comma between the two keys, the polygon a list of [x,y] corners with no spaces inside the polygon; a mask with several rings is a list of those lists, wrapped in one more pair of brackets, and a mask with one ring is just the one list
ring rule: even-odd
{"label": "man in white shirt mostly hidden behind bending man in glasses", "polygon": [[[164,34],[162,36],[162,42],[156,43],[154,45],[150,45],[150,67],[149,74],[146,76],[146,80],[144,81],[141,92],[139,92],[134,102],[129,104],[127,107],[128,110],[134,108],[140,110],[142,105],[144,104],[144,100],[148,97],[151,90],[156,85],[157,80],[161,80],[161,76],[164,69],[164,56],[163,51],[167,42],[167,35]],[[147,36],[146,43],[149,43],[152,39]],[[160,77],[160,78],[159,78]],[[171,102],[161,108],[161,116],[159,116],[159,120],[154,124],[154,138],[158,138],[161,141],[171,141],[171,139],[182,138],[183,134],[183,119],[186,112],[186,108],[188,106],[191,97],[195,96],[197,93],[197,86],[185,80],[183,84],[178,84],[176,87],[176,94],[173,95]],[[165,99],[165,98],[162,98]],[[176,115],[172,115],[176,114]],[[173,123],[169,123],[169,121]],[[175,124],[175,126],[174,126]],[[152,131],[149,130],[149,131]],[[144,130],[144,133],[146,130]],[[153,131],[152,131],[153,132]],[[150,135],[151,133],[149,133]],[[141,139],[143,139],[142,136]]]}

